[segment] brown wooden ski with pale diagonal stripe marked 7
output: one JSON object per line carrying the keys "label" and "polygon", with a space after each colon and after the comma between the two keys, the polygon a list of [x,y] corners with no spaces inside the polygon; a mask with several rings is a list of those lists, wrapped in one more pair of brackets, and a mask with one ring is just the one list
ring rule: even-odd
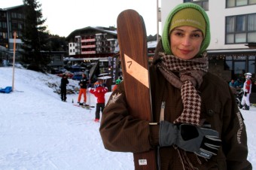
{"label": "brown wooden ski with pale diagonal stripe marked 7", "polygon": [[[146,36],[144,20],[136,11],[126,10],[118,15],[117,38],[129,111],[133,117],[153,121]],[[133,157],[136,170],[157,169],[155,150],[133,153]]]}

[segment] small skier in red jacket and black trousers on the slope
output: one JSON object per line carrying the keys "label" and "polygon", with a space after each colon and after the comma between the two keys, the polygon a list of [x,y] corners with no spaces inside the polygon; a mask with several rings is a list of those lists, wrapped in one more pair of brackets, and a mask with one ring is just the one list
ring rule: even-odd
{"label": "small skier in red jacket and black trousers on the slope", "polygon": [[97,103],[96,103],[96,111],[95,111],[95,122],[99,122],[100,119],[100,111],[103,112],[105,108],[105,93],[108,92],[107,87],[103,87],[99,81],[96,81],[94,83],[95,89],[89,89],[89,92],[92,93],[94,96],[97,98]]}

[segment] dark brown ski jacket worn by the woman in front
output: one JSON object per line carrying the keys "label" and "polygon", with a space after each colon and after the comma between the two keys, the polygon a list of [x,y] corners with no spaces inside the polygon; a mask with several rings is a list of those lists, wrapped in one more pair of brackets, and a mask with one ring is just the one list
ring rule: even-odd
{"label": "dark brown ski jacket worn by the woman in front", "polygon": [[[151,65],[149,71],[154,122],[160,121],[161,103],[166,102],[164,117],[173,123],[183,111],[181,91],[163,77],[156,64]],[[211,159],[190,152],[186,152],[187,158],[200,170],[251,170],[247,160],[245,123],[229,84],[206,73],[198,90],[202,99],[200,119],[218,131],[222,144],[218,154]],[[123,83],[111,94],[105,106],[99,132],[105,148],[111,151],[139,153],[159,146],[159,125],[149,126],[148,121],[130,115]],[[160,147],[159,155],[161,170],[183,169],[175,147]]]}

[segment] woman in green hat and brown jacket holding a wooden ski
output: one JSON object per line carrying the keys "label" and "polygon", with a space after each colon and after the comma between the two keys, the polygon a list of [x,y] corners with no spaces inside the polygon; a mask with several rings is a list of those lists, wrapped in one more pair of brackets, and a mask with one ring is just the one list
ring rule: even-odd
{"label": "woman in green hat and brown jacket holding a wooden ski", "polygon": [[120,83],[102,114],[106,149],[138,153],[160,146],[161,170],[251,169],[230,87],[208,71],[209,42],[209,19],[200,6],[184,3],[170,12],[150,68],[157,123],[130,116]]}

